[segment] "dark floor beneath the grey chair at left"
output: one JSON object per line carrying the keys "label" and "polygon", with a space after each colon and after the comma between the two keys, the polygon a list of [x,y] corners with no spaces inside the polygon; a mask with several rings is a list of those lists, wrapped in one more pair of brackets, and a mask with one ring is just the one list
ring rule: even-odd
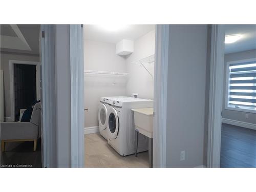
{"label": "dark floor beneath the grey chair at left", "polygon": [[41,167],[41,141],[37,140],[37,149],[33,151],[33,141],[8,142],[5,152],[1,152],[1,167]]}

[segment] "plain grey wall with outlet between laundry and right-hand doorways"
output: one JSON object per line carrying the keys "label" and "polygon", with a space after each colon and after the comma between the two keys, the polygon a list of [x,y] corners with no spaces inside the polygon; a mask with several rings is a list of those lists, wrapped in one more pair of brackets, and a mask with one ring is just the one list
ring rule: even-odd
{"label": "plain grey wall with outlet between laundry and right-hand doorways", "polygon": [[[207,25],[170,25],[166,166],[204,164]],[[180,161],[180,152],[185,160]]]}

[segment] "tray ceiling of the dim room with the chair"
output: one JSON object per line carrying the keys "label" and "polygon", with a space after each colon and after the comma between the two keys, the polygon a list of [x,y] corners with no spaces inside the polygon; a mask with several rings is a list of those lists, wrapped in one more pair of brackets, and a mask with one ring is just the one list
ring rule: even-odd
{"label": "tray ceiling of the dim room with the chair", "polygon": [[1,25],[1,51],[39,55],[40,25]]}

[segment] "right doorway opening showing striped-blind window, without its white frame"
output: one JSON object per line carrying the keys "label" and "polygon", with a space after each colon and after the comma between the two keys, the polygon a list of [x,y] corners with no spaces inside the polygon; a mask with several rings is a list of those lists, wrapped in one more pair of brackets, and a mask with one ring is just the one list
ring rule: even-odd
{"label": "right doorway opening showing striped-blind window, without its white frame", "polygon": [[225,25],[220,167],[256,167],[256,25]]}

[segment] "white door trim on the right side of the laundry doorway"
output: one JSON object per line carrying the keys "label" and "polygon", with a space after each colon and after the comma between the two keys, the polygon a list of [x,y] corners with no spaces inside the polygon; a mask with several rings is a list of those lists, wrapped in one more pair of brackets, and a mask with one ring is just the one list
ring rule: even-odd
{"label": "white door trim on the right side of the laundry doorway", "polygon": [[166,167],[169,25],[156,25],[153,167]]}

